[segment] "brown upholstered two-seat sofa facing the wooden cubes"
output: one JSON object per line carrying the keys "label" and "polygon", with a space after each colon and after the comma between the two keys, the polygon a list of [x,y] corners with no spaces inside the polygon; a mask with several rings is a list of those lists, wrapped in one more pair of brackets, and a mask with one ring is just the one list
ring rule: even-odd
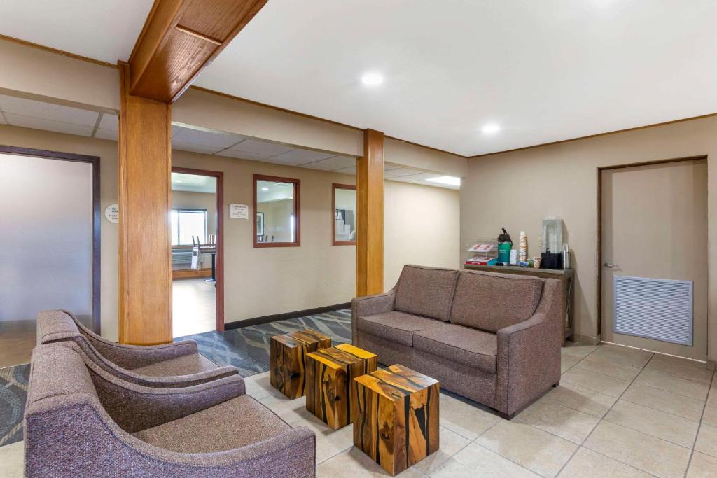
{"label": "brown upholstered two-seat sofa facing the wooden cubes", "polygon": [[512,418],[560,380],[556,279],[407,265],[351,302],[353,343]]}

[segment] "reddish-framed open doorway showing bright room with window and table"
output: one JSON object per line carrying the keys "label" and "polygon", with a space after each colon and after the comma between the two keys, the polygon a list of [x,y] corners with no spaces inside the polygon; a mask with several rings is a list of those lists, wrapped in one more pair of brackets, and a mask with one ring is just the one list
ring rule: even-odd
{"label": "reddish-framed open doorway showing bright room with window and table", "polygon": [[224,332],[224,173],[173,167],[174,338]]}

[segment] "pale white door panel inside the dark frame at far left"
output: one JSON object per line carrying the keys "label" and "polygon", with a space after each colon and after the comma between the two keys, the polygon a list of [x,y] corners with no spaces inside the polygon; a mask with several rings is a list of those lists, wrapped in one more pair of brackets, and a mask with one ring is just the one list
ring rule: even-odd
{"label": "pale white door panel inside the dark frame at far left", "polygon": [[0,153],[0,323],[92,322],[92,164]]}

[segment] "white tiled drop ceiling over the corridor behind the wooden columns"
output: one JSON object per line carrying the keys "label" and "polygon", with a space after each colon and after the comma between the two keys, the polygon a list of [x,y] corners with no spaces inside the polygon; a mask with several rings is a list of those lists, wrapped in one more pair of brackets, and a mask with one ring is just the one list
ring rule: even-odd
{"label": "white tiled drop ceiling over the corridor behind the wooden columns", "polygon": [[[113,141],[117,140],[118,130],[118,120],[115,115],[6,95],[0,95],[0,124]],[[219,131],[190,128],[187,125],[172,125],[172,148],[320,171],[356,174],[356,158],[352,156],[337,156],[333,153],[269,143]],[[443,176],[440,173],[399,168],[391,163],[386,163],[385,169],[386,179],[458,189],[454,186],[425,181],[427,178]],[[189,176],[188,183],[201,177],[186,176]],[[203,191],[202,186],[196,184],[183,187],[179,183],[173,183],[172,188],[177,191],[210,192]]]}

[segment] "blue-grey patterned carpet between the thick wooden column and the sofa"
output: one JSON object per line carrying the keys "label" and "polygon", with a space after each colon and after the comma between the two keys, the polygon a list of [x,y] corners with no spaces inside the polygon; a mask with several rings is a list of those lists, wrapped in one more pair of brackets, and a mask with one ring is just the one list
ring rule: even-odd
{"label": "blue-grey patterned carpet between the thick wooden column and the sofa", "polygon": [[269,370],[269,339],[272,335],[303,329],[318,330],[331,337],[333,344],[351,342],[351,310],[336,310],[295,319],[279,320],[227,330],[223,334],[206,332],[176,340],[191,339],[199,353],[219,365],[234,365],[248,377]]}

